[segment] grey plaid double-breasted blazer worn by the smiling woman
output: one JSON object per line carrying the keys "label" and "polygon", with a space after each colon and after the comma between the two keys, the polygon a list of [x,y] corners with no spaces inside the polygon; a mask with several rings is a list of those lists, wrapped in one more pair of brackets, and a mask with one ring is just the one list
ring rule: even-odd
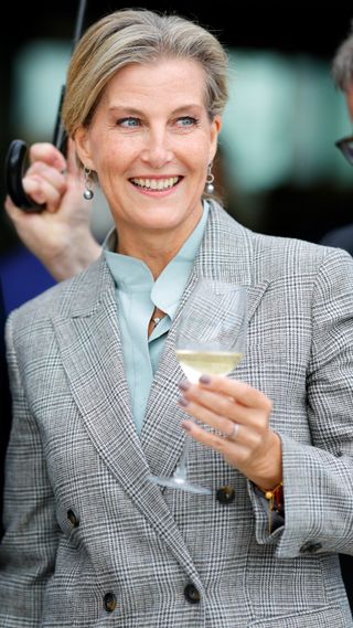
{"label": "grey plaid double-breasted blazer worn by the smiling woman", "polygon": [[149,483],[173,472],[185,437],[179,315],[139,438],[101,257],[8,322],[2,628],[353,626],[336,557],[353,553],[353,260],[252,233],[213,204],[179,312],[200,276],[248,287],[246,358],[231,376],[274,402],[285,524],[269,533],[252,483],[196,443],[191,480],[212,497]]}

